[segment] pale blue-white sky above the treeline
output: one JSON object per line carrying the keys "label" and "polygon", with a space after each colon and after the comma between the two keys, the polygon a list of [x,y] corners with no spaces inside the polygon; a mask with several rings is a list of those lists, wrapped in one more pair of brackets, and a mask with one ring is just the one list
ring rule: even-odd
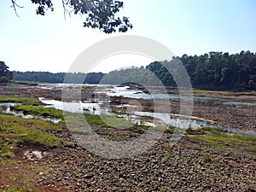
{"label": "pale blue-white sky above the treeline", "polygon": [[[10,0],[0,1],[0,60],[11,70],[67,72],[75,58],[90,45],[124,35],[84,28],[83,18],[77,15],[65,20],[60,0],[53,0],[55,11],[45,16],[35,14],[36,6],[30,0],[17,3],[24,6],[18,9],[20,17],[9,7]],[[254,0],[124,0],[124,3],[120,15],[129,16],[134,26],[125,34],[153,38],[175,55],[239,53],[242,49],[256,52]],[[96,71],[108,72],[124,62],[141,66],[149,60],[131,55],[113,57]]]}

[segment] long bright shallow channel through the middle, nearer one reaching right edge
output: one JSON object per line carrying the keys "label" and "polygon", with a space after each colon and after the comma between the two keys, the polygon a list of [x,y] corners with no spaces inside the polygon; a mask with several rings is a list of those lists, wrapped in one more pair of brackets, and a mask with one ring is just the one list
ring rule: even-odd
{"label": "long bright shallow channel through the middle, nearer one reaching right edge", "polygon": [[[48,108],[58,108],[67,112],[72,113],[90,113],[90,114],[108,114],[108,115],[116,115],[118,117],[122,117],[124,119],[130,120],[131,123],[137,125],[150,125],[150,126],[176,126],[183,128],[200,128],[203,126],[214,127],[218,129],[223,129],[226,131],[241,133],[247,135],[256,135],[256,131],[241,131],[236,128],[228,128],[218,124],[214,124],[207,119],[200,119],[197,117],[184,117],[177,114],[167,114],[167,113],[150,113],[150,112],[132,112],[132,113],[111,113],[108,108],[102,108],[101,102],[99,103],[84,103],[84,102],[60,102],[55,100],[41,100],[45,104],[49,104]],[[127,107],[131,107],[127,105]],[[87,110],[84,110],[87,109]],[[132,108],[132,107],[131,107]],[[141,117],[152,117],[154,120],[147,121],[141,120]]]}

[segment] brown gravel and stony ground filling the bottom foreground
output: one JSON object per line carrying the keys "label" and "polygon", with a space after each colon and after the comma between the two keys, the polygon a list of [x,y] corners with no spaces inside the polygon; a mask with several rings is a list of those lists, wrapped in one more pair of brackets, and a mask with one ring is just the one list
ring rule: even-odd
{"label": "brown gravel and stony ground filling the bottom foreground", "polygon": [[[53,132],[54,133],[54,132]],[[31,191],[255,191],[254,154],[214,151],[214,147],[183,137],[174,146],[165,133],[153,148],[130,159],[102,158],[73,143],[69,131],[54,133],[66,142],[47,151],[42,159],[26,160],[25,146],[17,146],[15,160],[4,166],[5,177],[27,172]],[[110,138],[111,139],[111,138]],[[22,152],[22,153],[20,153]],[[38,167],[40,168],[38,171]],[[7,170],[7,172],[6,172]],[[31,170],[31,171],[29,171]],[[15,174],[14,174],[15,175]],[[17,177],[17,176],[16,176]],[[24,184],[24,183],[23,183]],[[26,190],[25,190],[26,191]],[[27,190],[29,191],[29,190]]]}

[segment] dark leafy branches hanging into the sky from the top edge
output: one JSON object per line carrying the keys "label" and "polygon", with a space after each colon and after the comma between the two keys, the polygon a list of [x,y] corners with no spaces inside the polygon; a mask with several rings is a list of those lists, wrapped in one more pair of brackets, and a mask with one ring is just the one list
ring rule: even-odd
{"label": "dark leafy branches hanging into the sky from the top edge", "polygon": [[[31,0],[38,5],[37,15],[45,15],[48,9],[54,11],[52,0]],[[22,8],[17,0],[11,0],[15,13],[17,8]],[[102,32],[112,33],[127,32],[132,28],[128,17],[117,17],[119,9],[124,7],[124,3],[116,0],[62,0],[64,15],[84,15],[84,26],[98,28]]]}

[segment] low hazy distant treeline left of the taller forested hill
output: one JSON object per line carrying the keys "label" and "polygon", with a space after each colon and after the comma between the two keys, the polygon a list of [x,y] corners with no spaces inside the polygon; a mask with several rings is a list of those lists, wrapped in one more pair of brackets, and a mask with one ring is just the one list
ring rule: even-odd
{"label": "low hazy distant treeline left of the taller forested hill", "polygon": [[[49,72],[14,72],[14,79],[19,81],[33,81],[44,83],[63,83],[67,73],[49,73]],[[99,84],[104,73],[68,73],[72,82],[84,84]],[[67,82],[68,83],[68,82]]]}

